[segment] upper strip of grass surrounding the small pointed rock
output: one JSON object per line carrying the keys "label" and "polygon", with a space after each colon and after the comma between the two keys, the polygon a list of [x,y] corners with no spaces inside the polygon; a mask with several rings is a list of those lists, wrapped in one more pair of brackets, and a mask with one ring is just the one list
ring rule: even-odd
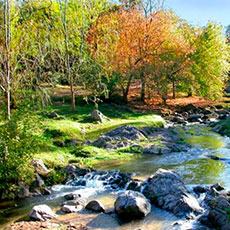
{"label": "upper strip of grass surrounding the small pointed rock", "polygon": [[56,111],[64,119],[45,119],[45,126],[50,129],[60,130],[66,133],[66,136],[76,138],[78,140],[96,140],[101,134],[121,125],[134,125],[137,127],[162,127],[164,125],[164,120],[157,115],[130,113],[112,109],[109,110],[104,107],[100,107],[99,110],[111,120],[101,124],[89,121],[88,115],[93,111],[92,106],[78,107],[78,111],[76,112],[72,112],[70,107],[66,105],[51,107],[49,110]]}

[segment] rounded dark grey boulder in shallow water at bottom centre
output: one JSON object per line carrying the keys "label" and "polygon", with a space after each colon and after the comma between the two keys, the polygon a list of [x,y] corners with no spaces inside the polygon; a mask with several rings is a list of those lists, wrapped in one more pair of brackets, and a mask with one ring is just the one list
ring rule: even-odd
{"label": "rounded dark grey boulder in shallow water at bottom centre", "polygon": [[125,221],[143,218],[151,212],[149,201],[143,194],[134,191],[121,194],[114,207],[117,215]]}

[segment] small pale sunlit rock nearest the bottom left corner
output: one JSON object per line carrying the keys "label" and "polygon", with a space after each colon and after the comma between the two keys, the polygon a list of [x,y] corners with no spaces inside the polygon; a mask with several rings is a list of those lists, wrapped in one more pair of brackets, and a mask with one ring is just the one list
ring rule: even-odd
{"label": "small pale sunlit rock nearest the bottom left corner", "polygon": [[32,220],[46,221],[55,217],[56,215],[46,204],[34,206],[30,212],[30,218]]}

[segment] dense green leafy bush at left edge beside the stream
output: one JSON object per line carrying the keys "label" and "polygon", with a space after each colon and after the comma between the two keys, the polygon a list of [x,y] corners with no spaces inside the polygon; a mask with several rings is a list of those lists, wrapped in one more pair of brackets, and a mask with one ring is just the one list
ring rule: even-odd
{"label": "dense green leafy bush at left edge beside the stream", "polygon": [[33,180],[32,155],[42,145],[36,117],[17,112],[0,126],[0,198],[15,198],[19,182]]}

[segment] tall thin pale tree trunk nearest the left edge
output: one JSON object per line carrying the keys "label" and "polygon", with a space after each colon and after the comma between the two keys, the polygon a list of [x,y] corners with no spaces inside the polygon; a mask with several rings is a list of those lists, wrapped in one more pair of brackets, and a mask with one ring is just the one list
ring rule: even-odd
{"label": "tall thin pale tree trunk nearest the left edge", "polygon": [[11,93],[11,72],[10,72],[10,40],[11,40],[11,31],[10,31],[10,3],[9,0],[4,0],[4,27],[5,27],[5,48],[6,48],[6,111],[7,117],[11,117],[10,109],[10,93]]}

